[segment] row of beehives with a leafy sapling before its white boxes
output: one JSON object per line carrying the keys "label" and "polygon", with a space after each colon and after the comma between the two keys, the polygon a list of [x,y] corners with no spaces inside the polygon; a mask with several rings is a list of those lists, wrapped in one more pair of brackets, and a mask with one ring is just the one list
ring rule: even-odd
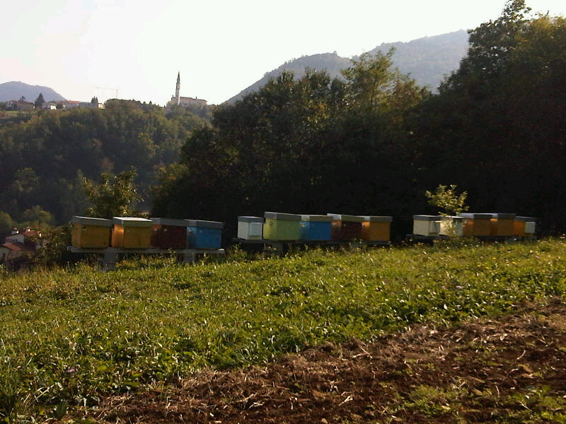
{"label": "row of beehives with a leafy sapling before its white boxes", "polygon": [[459,216],[414,215],[414,235],[436,237],[529,237],[536,220],[514,213],[461,213]]}

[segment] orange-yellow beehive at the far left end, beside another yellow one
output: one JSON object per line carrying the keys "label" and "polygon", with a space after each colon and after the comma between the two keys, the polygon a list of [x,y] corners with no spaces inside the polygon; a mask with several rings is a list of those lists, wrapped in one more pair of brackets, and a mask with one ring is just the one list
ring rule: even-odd
{"label": "orange-yellow beehive at the far left end, beside another yellow one", "polygon": [[71,245],[73,247],[104,249],[110,246],[112,220],[74,216],[71,218]]}

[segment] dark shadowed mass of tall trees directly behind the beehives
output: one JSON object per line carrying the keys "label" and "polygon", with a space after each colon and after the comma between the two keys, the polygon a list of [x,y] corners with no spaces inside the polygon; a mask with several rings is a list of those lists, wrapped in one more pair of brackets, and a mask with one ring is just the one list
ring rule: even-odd
{"label": "dark shadowed mass of tall trees directly behind the beehives", "polygon": [[[523,0],[470,31],[440,92],[363,54],[343,80],[283,73],[214,113],[161,174],[154,213],[236,222],[263,211],[436,213],[427,189],[457,184],[470,211],[540,218],[566,230],[566,20]],[[409,230],[401,225],[400,233]]]}

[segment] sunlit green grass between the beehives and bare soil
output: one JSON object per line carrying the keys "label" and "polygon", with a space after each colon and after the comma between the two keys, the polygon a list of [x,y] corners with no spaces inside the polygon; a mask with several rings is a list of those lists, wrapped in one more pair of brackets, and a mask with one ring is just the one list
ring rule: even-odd
{"label": "sunlit green grass between the beehives and bare soil", "polygon": [[462,242],[195,266],[141,259],[110,273],[0,270],[0,422],[61,416],[206,366],[563,295],[565,247]]}

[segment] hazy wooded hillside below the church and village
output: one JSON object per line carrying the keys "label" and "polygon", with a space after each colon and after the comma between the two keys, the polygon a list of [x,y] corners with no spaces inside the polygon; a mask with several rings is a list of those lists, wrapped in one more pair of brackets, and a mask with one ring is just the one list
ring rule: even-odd
{"label": "hazy wooded hillside below the church and village", "polygon": [[[190,131],[207,124],[206,111],[110,100],[104,110],[43,111],[28,122],[0,127],[0,210],[23,222],[40,206],[58,223],[84,213],[83,177],[98,181],[134,166],[147,197],[156,167],[178,160]],[[201,114],[203,117],[199,116]]]}

